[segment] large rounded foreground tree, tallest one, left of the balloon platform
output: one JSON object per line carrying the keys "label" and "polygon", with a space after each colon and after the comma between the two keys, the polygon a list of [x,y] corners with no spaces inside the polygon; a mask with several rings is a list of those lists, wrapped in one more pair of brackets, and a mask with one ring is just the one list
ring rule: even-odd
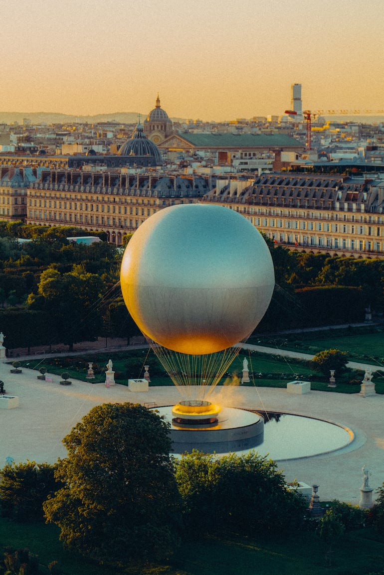
{"label": "large rounded foreground tree, tallest one, left of the balloon platform", "polygon": [[60,539],[97,561],[158,560],[177,543],[180,496],[169,425],[142,405],[94,407],[63,439],[64,482],[44,504]]}

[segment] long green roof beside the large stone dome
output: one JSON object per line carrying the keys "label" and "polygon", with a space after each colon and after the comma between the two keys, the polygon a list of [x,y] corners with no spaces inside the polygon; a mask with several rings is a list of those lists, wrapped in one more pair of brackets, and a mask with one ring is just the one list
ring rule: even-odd
{"label": "long green roof beside the large stone dome", "polygon": [[179,133],[184,140],[189,141],[196,147],[212,148],[281,148],[295,147],[303,148],[303,144],[286,134],[193,134]]}

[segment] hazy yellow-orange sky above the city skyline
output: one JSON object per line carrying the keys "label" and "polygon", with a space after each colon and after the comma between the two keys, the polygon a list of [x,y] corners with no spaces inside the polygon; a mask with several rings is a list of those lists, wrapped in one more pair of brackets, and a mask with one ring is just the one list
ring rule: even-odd
{"label": "hazy yellow-orange sky above the city skyline", "polygon": [[384,109],[384,0],[0,0],[2,112]]}

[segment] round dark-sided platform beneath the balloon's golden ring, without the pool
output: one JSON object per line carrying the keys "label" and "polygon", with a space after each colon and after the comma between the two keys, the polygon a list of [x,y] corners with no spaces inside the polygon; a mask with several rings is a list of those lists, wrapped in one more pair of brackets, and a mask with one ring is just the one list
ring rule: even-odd
{"label": "round dark-sided platform beneath the balloon's golden ring, without the pool", "polygon": [[203,453],[229,453],[250,450],[263,443],[264,419],[258,413],[223,407],[217,423],[208,425],[178,426],[173,421],[172,407],[158,407],[159,415],[170,423],[170,436],[174,454],[193,449]]}

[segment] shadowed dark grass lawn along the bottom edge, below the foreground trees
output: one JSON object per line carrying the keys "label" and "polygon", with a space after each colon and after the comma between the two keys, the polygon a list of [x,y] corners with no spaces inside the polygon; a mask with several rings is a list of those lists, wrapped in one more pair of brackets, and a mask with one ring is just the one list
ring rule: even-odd
{"label": "shadowed dark grass lawn along the bottom edge, below the foreground trees", "polygon": [[[24,525],[0,519],[3,549],[27,547],[39,557],[41,572],[58,561],[64,575],[112,575],[119,570],[94,565],[81,556],[64,551],[55,526]],[[357,575],[382,569],[384,540],[371,530],[352,531],[329,547],[311,531],[292,533],[281,538],[265,535],[257,539],[237,536],[223,539],[184,542],[169,565],[132,568],[130,575]]]}

